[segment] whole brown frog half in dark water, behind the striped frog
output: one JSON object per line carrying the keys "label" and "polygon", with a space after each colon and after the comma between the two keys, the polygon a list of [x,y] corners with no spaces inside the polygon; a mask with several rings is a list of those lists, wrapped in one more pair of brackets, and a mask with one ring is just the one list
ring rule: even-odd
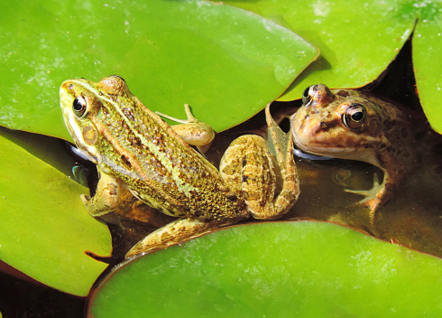
{"label": "whole brown frog half in dark water, behind the striped frog", "polygon": [[308,87],[303,105],[291,119],[295,145],[309,154],[358,160],[383,171],[373,189],[351,191],[365,196],[360,201],[375,210],[410,172],[416,160],[410,115],[399,106],[356,89]]}

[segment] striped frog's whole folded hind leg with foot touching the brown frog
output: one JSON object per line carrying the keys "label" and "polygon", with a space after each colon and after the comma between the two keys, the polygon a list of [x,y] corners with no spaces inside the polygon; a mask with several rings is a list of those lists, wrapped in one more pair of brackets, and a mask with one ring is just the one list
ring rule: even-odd
{"label": "striped frog's whole folded hind leg with foot touching the brown frog", "polygon": [[[219,172],[229,189],[244,199],[254,219],[281,218],[299,196],[299,180],[292,153],[292,141],[272,121],[266,108],[269,139],[276,153],[276,162],[266,141],[261,136],[246,135],[236,138],[221,159]],[[282,189],[275,197],[276,172],[280,170]]]}

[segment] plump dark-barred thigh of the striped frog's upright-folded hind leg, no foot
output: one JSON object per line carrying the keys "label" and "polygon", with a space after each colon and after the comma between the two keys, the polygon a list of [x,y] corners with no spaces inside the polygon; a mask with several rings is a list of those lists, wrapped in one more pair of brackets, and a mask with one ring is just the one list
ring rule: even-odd
{"label": "plump dark-barred thigh of the striped frog's upright-folded hind leg, no foot", "polygon": [[240,136],[227,148],[219,169],[227,186],[244,197],[255,219],[272,219],[276,175],[265,140]]}

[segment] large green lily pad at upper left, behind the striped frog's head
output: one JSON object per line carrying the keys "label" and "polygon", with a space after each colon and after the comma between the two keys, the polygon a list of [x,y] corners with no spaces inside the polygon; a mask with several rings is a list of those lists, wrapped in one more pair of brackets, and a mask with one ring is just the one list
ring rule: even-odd
{"label": "large green lily pad at upper left, behind the striped frog's head", "polygon": [[318,55],[277,23],[202,0],[20,0],[0,11],[0,124],[67,140],[65,79],[118,74],[152,110],[184,118],[188,103],[220,131],[281,95]]}

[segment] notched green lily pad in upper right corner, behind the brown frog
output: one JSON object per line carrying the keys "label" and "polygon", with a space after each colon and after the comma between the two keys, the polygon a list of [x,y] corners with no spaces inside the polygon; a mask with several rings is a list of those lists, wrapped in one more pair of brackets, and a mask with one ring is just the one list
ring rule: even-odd
{"label": "notched green lily pad in upper right corner, behind the brown frog", "polygon": [[419,98],[433,128],[442,132],[442,2],[440,0],[237,1],[298,33],[321,51],[281,100],[298,99],[308,86],[357,88],[376,79],[413,31],[413,62]]}

